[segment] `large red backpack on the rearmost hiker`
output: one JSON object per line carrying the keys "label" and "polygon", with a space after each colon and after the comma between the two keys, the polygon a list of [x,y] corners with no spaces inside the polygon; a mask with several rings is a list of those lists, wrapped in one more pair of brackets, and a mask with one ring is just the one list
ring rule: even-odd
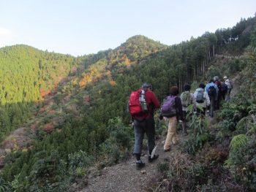
{"label": "large red backpack on the rearmost hiker", "polygon": [[148,111],[144,90],[132,91],[129,96],[129,113],[131,115],[143,115]]}

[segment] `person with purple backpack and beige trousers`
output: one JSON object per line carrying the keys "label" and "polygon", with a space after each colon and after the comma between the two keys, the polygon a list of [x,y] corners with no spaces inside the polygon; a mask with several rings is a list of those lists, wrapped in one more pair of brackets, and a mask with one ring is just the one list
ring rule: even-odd
{"label": "person with purple backpack and beige trousers", "polygon": [[178,88],[176,86],[173,86],[170,88],[170,96],[167,96],[167,99],[170,99],[171,101],[171,107],[170,107],[170,115],[165,115],[163,112],[165,108],[165,103],[162,105],[161,108],[161,115],[167,120],[169,120],[168,124],[168,131],[167,131],[167,137],[165,139],[165,145],[164,150],[165,152],[170,150],[170,146],[176,145],[178,143],[178,137],[176,133],[176,126],[178,120],[184,120],[183,112],[182,112],[182,105],[181,105],[181,99],[178,97]]}

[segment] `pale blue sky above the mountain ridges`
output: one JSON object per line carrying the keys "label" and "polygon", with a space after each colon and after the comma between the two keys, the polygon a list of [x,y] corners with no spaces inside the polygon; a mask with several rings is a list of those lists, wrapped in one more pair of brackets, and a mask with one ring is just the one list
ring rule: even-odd
{"label": "pale blue sky above the mountain ridges", "polygon": [[0,0],[0,47],[87,55],[143,35],[165,45],[255,17],[255,0]]}

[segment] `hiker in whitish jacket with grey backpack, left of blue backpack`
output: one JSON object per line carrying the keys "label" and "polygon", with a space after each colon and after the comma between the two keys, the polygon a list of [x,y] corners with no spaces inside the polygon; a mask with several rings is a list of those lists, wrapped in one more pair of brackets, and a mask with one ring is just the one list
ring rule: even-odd
{"label": "hiker in whitish jacket with grey backpack, left of blue backpack", "polygon": [[[206,108],[210,106],[210,98],[208,93],[205,91],[206,85],[201,82],[198,87],[199,88],[197,88],[194,93],[197,106],[197,114],[206,116]],[[203,107],[203,111],[200,110],[198,106]]]}

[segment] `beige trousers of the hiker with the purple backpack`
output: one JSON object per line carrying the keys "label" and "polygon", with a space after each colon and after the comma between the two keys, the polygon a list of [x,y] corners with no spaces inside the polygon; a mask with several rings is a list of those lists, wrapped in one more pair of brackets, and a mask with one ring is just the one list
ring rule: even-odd
{"label": "beige trousers of the hiker with the purple backpack", "polygon": [[177,119],[176,117],[168,118],[169,124],[168,124],[168,132],[167,137],[165,139],[165,145],[164,150],[169,150],[170,145],[177,144],[178,143],[178,136],[176,132],[176,126],[177,126]]}

